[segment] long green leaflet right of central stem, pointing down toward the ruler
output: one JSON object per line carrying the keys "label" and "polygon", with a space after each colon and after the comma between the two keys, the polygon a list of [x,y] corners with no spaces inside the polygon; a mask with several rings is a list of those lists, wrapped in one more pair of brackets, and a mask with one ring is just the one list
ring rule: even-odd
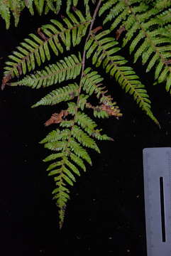
{"label": "long green leaflet right of central stem, pointing down toward the ruler", "polygon": [[[96,67],[102,64],[106,73],[114,76],[119,85],[130,95],[133,95],[134,100],[136,100],[142,110],[158,124],[158,120],[150,110],[150,100],[145,86],[142,85],[133,68],[125,65],[127,60],[120,55],[115,55],[120,50],[117,47],[118,42],[114,38],[106,37],[106,34],[108,34],[108,31],[106,33],[103,31],[98,35],[92,33],[86,46],[87,58],[92,56],[92,63]],[[96,117],[107,117],[107,113],[100,109],[95,110],[94,114]]]}

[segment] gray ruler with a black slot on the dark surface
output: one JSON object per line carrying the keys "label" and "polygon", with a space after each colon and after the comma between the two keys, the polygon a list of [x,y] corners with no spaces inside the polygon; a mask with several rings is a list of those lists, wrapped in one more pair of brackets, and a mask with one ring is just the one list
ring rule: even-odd
{"label": "gray ruler with a black slot on the dark surface", "polygon": [[148,256],[171,256],[171,148],[143,149]]}

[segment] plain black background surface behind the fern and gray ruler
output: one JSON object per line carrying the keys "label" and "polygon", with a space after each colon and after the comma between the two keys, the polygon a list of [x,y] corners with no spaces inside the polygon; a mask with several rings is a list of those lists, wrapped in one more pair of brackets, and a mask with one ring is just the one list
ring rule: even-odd
{"label": "plain black background surface behind the fern and gray ruler", "polygon": [[[3,26],[1,63],[42,21],[25,15],[17,29],[5,31]],[[64,255],[146,255],[143,148],[170,146],[171,107],[165,85],[153,87],[150,75],[143,75],[161,129],[114,80],[106,80],[123,117],[99,122],[114,142],[99,142],[101,154],[92,152],[93,166],[77,178],[61,231],[51,200],[53,178],[41,161],[49,152],[38,144],[55,128],[43,125],[54,109],[31,109],[49,90],[6,87],[1,92],[1,255],[51,256],[61,250]]]}

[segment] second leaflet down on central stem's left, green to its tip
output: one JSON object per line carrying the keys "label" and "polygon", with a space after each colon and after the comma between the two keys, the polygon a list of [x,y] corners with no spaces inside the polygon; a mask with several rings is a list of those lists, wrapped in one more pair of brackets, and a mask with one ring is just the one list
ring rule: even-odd
{"label": "second leaflet down on central stem's left, green to its tip", "polygon": [[43,70],[36,71],[33,75],[26,75],[25,78],[17,82],[11,82],[9,85],[26,85],[32,88],[48,87],[60,83],[64,80],[75,79],[82,68],[82,58],[79,53],[65,57],[64,60],[58,61],[56,64],[48,65]]}

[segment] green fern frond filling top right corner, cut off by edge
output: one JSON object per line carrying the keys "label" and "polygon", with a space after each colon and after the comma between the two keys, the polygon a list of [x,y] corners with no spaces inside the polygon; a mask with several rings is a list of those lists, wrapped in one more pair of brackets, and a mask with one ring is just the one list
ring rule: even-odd
{"label": "green fern frond filling top right corner, cut off by edge", "polygon": [[162,2],[157,1],[150,8],[143,1],[107,1],[99,15],[112,6],[104,23],[112,22],[111,31],[118,26],[118,30],[124,28],[123,46],[131,42],[134,63],[141,57],[143,65],[148,64],[146,71],[155,68],[155,80],[166,82],[166,90],[171,92],[171,41],[164,28],[170,23],[170,9],[165,8],[171,6],[171,1],[165,1],[163,5]]}

